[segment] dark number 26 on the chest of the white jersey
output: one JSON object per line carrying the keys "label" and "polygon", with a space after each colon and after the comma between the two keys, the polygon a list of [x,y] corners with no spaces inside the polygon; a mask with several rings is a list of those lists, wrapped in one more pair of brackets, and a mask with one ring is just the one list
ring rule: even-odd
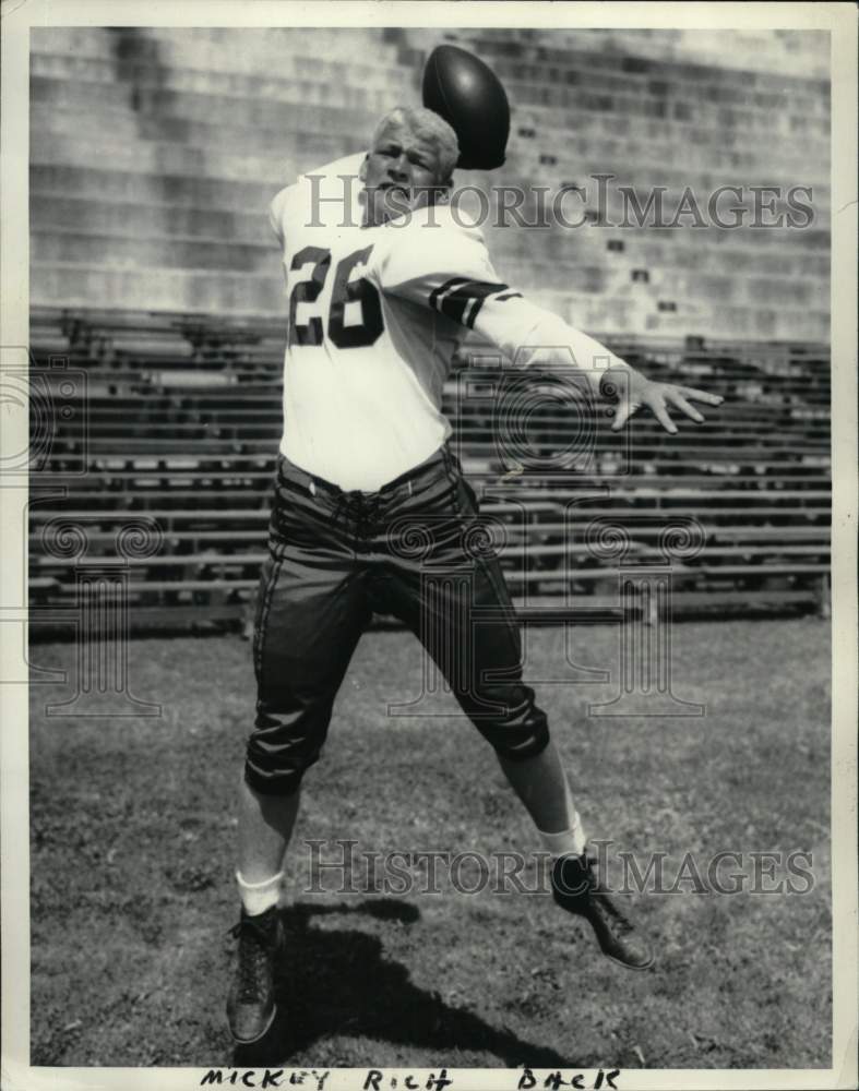
{"label": "dark number 26 on the chest of the white jersey", "polygon": [[[344,257],[334,271],[327,337],[337,348],[366,348],[374,344],[384,329],[382,304],[375,286],[363,277],[349,280],[355,266],[366,264],[372,249],[356,250]],[[299,323],[296,322],[296,312],[299,303],[314,303],[319,299],[331,272],[331,251],[305,247],[295,255],[289,268],[297,272],[306,265],[313,266],[310,279],[300,280],[289,296],[290,346],[321,345],[324,337],[321,315],[314,314],[306,323]],[[353,302],[361,304],[361,321],[346,325],[346,304]]]}

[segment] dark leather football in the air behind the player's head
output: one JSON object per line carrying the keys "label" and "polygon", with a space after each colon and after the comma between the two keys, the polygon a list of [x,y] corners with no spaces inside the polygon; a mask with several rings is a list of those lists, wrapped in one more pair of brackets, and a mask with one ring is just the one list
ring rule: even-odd
{"label": "dark leather football in the air behind the player's head", "polygon": [[493,170],[504,161],[510,104],[501,81],[481,60],[457,46],[437,46],[423,70],[423,105],[453,128],[458,167]]}

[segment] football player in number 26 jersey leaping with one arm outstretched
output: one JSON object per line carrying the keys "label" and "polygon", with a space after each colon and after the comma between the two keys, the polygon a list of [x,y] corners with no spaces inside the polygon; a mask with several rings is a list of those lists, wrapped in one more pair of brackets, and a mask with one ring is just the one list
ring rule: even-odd
{"label": "football player in number 26 jersey leaping with one arm outstretched", "polygon": [[[299,786],[374,611],[421,639],[494,750],[553,855],[556,901],[590,923],[610,958],[636,970],[653,963],[587,851],[546,716],[523,682],[498,560],[464,544],[477,504],[448,445],[442,388],[454,351],[476,331],[520,364],[584,372],[596,395],[610,377],[622,392],[615,429],[646,407],[675,432],[669,408],[700,422],[691,403],[721,399],[648,382],[505,284],[479,228],[445,204],[458,155],[440,117],[398,108],[358,164],[305,176],[272,204],[289,319],[284,433],[254,620],[256,718],[240,786],[241,915],[227,1004],[239,1042],[261,1038],[274,1018],[276,906]],[[348,207],[356,166],[360,216]],[[433,582],[433,570],[464,578]],[[479,638],[475,607],[494,618]]]}

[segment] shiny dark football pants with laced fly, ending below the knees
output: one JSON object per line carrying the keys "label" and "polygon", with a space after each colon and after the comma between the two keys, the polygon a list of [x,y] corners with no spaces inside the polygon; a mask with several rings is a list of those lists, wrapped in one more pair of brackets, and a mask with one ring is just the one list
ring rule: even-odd
{"label": "shiny dark football pants with laced fly, ending below the knees", "polygon": [[546,716],[522,681],[501,567],[450,451],[375,493],[344,492],[281,456],[254,622],[251,788],[289,794],[319,758],[373,612],[419,637],[499,754],[516,760],[544,750]]}

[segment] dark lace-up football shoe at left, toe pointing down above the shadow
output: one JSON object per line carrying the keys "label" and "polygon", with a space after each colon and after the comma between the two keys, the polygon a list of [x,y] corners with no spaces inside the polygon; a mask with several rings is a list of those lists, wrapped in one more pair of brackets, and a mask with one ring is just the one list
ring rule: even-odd
{"label": "dark lace-up football shoe at left, toe pointing down above the shadow", "polygon": [[227,1019],[234,1039],[242,1045],[259,1041],[274,1022],[274,964],[283,946],[277,907],[259,916],[242,910],[230,930],[239,940],[238,966],[227,997]]}

